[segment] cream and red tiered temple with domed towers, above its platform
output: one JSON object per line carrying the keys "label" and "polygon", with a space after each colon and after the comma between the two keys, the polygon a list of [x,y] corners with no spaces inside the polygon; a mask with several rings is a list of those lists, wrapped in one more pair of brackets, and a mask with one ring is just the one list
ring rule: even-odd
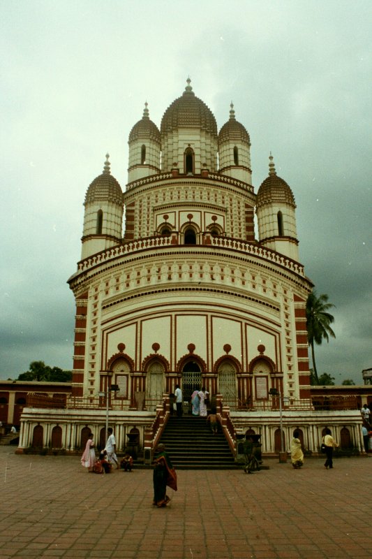
{"label": "cream and red tiered temple with domed towers, above its platform", "polygon": [[[190,80],[160,129],[147,103],[129,133],[128,183],[110,173],[84,201],[73,395],[113,384],[123,409],[149,409],[180,384],[232,407],[309,396],[295,198],[276,174],[252,184],[251,139],[230,106],[218,131]],[[255,234],[255,217],[258,236]]]}

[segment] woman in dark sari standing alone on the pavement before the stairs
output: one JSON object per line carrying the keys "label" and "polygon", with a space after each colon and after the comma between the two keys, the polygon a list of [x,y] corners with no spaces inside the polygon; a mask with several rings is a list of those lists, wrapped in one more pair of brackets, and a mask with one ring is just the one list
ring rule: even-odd
{"label": "woman in dark sari standing alone on the pavement before the stairs", "polygon": [[166,507],[170,498],[166,494],[167,486],[177,491],[177,475],[174,472],[172,462],[168,452],[165,452],[165,445],[158,444],[154,458],[154,500],[152,504],[156,507]]}

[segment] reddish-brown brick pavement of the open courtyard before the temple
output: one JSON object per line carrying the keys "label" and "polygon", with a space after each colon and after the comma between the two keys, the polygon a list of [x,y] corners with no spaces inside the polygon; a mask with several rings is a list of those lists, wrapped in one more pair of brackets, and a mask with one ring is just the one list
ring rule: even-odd
{"label": "reddish-brown brick pavement of the open courtyard before the temple", "polygon": [[306,460],[302,470],[179,470],[166,509],[151,470],[89,474],[80,459],[0,447],[0,557],[369,558],[370,458]]}

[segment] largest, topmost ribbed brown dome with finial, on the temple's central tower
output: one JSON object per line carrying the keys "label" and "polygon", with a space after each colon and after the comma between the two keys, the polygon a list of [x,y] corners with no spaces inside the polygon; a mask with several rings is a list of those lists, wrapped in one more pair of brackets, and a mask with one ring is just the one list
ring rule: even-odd
{"label": "largest, topmost ribbed brown dome with finial, on the temple's central tower", "polygon": [[167,134],[179,128],[195,128],[217,136],[217,123],[207,105],[195,96],[187,80],[184,93],[173,101],[161,120],[161,134]]}

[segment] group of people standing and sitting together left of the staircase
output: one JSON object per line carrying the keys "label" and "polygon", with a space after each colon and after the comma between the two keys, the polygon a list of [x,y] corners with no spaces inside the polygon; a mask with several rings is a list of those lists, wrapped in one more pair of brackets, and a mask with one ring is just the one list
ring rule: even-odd
{"label": "group of people standing and sitting together left of the staircase", "polygon": [[121,459],[120,466],[117,458],[117,442],[111,427],[107,429],[108,438],[105,449],[100,452],[98,459],[96,458],[96,450],[94,444],[93,433],[89,433],[87,444],[82,454],[82,466],[88,469],[88,472],[96,474],[110,474],[113,464],[116,464],[117,470],[122,468],[124,472],[131,472],[133,467],[133,458],[130,453],[126,452]]}

